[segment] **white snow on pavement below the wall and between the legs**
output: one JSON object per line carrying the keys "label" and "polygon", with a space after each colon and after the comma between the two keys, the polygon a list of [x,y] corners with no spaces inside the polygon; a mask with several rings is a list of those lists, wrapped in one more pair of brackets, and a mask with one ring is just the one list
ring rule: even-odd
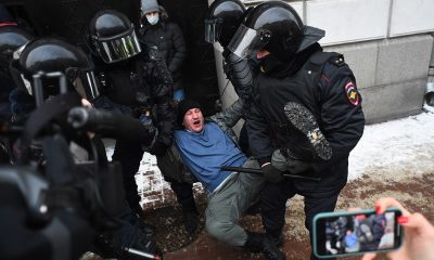
{"label": "white snow on pavement below the wall and between the legs", "polygon": [[[112,154],[113,142],[107,146],[107,155]],[[349,156],[348,180],[363,173],[405,171],[422,174],[433,170],[434,107],[424,106],[424,112],[419,115],[366,126],[363,136]],[[136,180],[143,205],[158,200],[164,204],[168,198],[169,185],[163,180],[154,156],[144,153]]]}

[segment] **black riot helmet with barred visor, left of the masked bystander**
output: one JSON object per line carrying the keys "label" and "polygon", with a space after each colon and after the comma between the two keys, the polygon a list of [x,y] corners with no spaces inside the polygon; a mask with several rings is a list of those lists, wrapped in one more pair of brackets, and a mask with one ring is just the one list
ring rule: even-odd
{"label": "black riot helmet with barred visor, left of the masked bystander", "polygon": [[89,24],[89,40],[105,63],[127,60],[141,52],[135,26],[115,10],[97,12]]}

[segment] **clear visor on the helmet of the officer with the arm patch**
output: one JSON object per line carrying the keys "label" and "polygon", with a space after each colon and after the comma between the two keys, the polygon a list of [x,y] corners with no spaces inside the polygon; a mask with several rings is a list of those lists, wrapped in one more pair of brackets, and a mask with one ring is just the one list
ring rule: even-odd
{"label": "clear visor on the helmet of the officer with the arm patch", "polygon": [[270,40],[268,30],[255,30],[241,24],[229,42],[228,49],[237,56],[244,58],[254,51],[260,51]]}

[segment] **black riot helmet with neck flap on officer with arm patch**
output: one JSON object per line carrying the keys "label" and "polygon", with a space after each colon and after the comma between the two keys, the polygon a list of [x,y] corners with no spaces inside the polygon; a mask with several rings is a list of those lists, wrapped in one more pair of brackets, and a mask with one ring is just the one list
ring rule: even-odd
{"label": "black riot helmet with neck flap on officer with arm patch", "polygon": [[323,36],[323,30],[305,26],[290,4],[269,1],[248,12],[228,49],[240,57],[265,49],[286,61]]}

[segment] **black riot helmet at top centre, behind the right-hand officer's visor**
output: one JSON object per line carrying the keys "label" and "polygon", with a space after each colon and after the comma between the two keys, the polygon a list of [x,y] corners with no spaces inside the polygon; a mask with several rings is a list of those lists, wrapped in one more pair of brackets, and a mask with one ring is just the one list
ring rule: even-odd
{"label": "black riot helmet at top centre, behind the right-hand officer's visor", "polygon": [[244,16],[245,6],[239,0],[216,0],[205,15],[205,41],[228,47]]}

